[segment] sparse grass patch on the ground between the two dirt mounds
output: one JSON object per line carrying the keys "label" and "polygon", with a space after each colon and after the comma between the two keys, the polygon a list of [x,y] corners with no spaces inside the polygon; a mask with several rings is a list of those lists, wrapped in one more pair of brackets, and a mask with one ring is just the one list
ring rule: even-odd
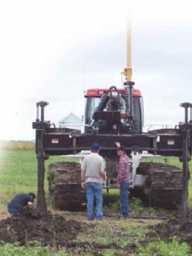
{"label": "sparse grass patch on the ground between the two dirt mounds", "polygon": [[[151,220],[150,224],[157,224],[158,220]],[[87,241],[90,244],[94,241],[96,244],[108,246],[116,245],[123,250],[132,243],[140,245],[146,241],[145,233],[148,232],[148,220],[141,222],[137,219],[125,221],[117,218],[104,218],[102,224],[97,224],[92,230],[85,230],[79,233],[79,241]],[[117,254],[116,254],[117,255]]]}

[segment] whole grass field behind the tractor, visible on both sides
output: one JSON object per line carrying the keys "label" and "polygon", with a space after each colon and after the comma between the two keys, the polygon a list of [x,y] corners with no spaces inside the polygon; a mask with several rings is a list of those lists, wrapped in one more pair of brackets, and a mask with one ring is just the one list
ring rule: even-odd
{"label": "whole grass field behind the tractor, visible on both sides", "polygon": [[[6,204],[15,193],[32,191],[37,193],[37,158],[32,142],[4,143],[0,160],[0,204]],[[75,158],[50,156],[45,160],[44,189],[48,198],[47,167],[53,161],[78,161]],[[146,159],[148,160],[148,159]],[[177,157],[154,157],[150,161],[166,162],[182,168]],[[192,170],[192,162],[189,162]],[[189,180],[189,207],[192,208],[192,179]]]}

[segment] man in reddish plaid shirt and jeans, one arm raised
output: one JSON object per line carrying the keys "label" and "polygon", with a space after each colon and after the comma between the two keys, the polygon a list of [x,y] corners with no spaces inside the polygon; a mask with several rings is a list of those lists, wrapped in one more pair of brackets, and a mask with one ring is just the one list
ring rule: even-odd
{"label": "man in reddish plaid shirt and jeans, one arm raised", "polygon": [[129,157],[125,153],[125,147],[120,146],[119,143],[117,145],[117,154],[119,156],[119,160],[117,162],[117,188],[120,189],[119,197],[120,197],[120,206],[121,213],[123,218],[128,218],[129,215],[129,205],[128,205],[128,190],[130,185],[130,174],[129,174]]}

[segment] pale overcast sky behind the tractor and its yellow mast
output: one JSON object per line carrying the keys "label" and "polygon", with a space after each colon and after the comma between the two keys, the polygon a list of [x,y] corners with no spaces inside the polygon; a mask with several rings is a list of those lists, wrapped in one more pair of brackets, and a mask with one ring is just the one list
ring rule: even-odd
{"label": "pale overcast sky behind the tractor and its yellow mast", "polygon": [[132,80],[145,125],[183,120],[192,102],[190,1],[13,0],[0,3],[0,138],[32,140],[36,102],[58,123],[84,114],[84,90],[122,86],[131,18]]}

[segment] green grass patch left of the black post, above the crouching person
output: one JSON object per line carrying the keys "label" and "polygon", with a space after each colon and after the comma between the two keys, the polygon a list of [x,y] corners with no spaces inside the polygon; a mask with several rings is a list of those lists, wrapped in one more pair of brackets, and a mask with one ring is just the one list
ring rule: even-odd
{"label": "green grass patch left of the black post, above the crouching person", "polygon": [[3,163],[0,166],[0,194],[7,201],[19,191],[36,193],[36,156],[32,150],[3,151]]}

